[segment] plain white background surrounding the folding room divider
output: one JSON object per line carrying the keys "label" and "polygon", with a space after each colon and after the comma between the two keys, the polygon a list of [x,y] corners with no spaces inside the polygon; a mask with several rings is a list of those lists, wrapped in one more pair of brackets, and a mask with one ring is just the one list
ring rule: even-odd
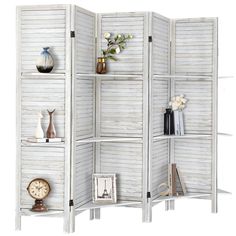
{"label": "plain white background surrounding the folding room divider", "polygon": [[[22,231],[14,231],[15,209],[15,7],[24,4],[72,3],[94,12],[155,11],[170,18],[219,17],[219,74],[235,75],[236,8],[233,0],[8,0],[0,8],[0,234],[63,235],[62,219],[24,217]],[[219,81],[219,131],[235,133],[235,80]],[[235,192],[235,137],[219,138],[219,187]],[[164,204],[153,209],[153,222],[141,223],[141,210],[103,209],[100,221],[88,212],[76,218],[76,235],[236,235],[234,195],[219,196],[219,213],[210,202],[179,200],[175,211]]]}

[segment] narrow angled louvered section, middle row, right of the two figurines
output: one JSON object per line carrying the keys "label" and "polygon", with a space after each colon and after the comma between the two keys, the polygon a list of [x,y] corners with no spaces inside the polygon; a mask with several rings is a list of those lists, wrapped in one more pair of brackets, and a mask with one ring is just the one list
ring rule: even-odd
{"label": "narrow angled louvered section, middle row, right of the two figurines", "polygon": [[94,78],[77,77],[75,88],[76,138],[92,136],[94,129]]}

